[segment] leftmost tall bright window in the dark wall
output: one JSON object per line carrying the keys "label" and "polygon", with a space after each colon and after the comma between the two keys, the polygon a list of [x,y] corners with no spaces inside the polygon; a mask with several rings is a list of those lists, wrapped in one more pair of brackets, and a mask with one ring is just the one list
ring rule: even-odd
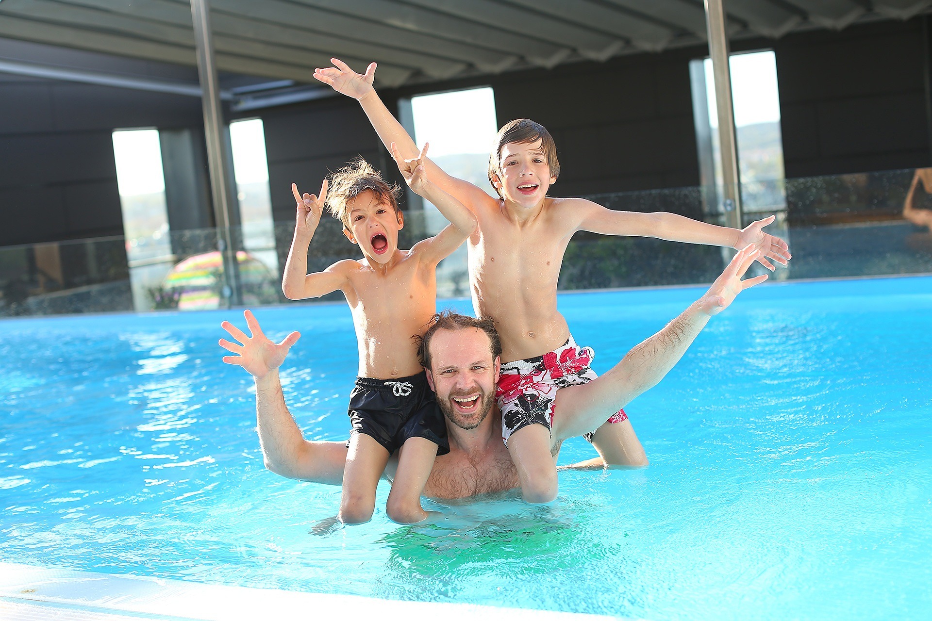
{"label": "leftmost tall bright window in the dark wall", "polygon": [[142,311],[173,256],[158,129],[120,129],[113,142],[132,300]]}

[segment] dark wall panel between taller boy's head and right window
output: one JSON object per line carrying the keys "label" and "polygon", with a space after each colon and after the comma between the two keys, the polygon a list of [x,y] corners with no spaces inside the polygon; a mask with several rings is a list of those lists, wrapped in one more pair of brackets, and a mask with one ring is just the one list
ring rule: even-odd
{"label": "dark wall panel between taller boy's head and right window", "polygon": [[699,182],[689,61],[677,50],[492,80],[499,123],[548,128],[560,158],[551,194],[578,196]]}

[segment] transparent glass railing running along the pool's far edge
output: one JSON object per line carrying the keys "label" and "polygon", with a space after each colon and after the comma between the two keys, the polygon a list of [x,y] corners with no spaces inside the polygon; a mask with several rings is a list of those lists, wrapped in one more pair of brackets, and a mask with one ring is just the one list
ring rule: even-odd
{"label": "transparent glass railing running along the pool's far edge", "polygon": [[[767,230],[786,239],[793,253],[789,267],[777,269],[777,279],[932,273],[932,234],[902,214],[912,174],[910,169],[771,182],[752,189],[757,200],[748,201],[744,223],[776,215]],[[670,211],[724,223],[715,196],[689,187],[588,197],[610,209]],[[761,196],[774,197],[774,205]],[[932,209],[932,198],[920,191],[915,207]],[[423,212],[406,213],[400,247],[426,236],[429,225]],[[322,221],[308,252],[308,271],[360,256],[341,229],[336,220]],[[281,271],[293,232],[291,222],[232,230],[239,287],[228,290],[225,257],[218,250],[226,236],[216,229],[0,248],[0,316],[286,304]],[[128,249],[146,258],[128,262]],[[569,243],[559,289],[706,283],[729,256],[715,247],[581,232]],[[469,295],[465,248],[438,267],[437,290],[441,298]],[[339,292],[324,297],[341,298]]]}

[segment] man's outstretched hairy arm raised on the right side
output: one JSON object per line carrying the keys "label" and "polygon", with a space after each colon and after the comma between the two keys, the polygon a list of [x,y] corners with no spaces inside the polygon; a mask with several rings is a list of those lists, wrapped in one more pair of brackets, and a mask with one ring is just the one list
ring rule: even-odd
{"label": "man's outstretched hairy arm raised on the right side", "polygon": [[553,435],[555,440],[593,431],[631,399],[657,385],[706,327],[709,317],[728,307],[742,290],[763,282],[767,275],[741,280],[760,256],[749,246],[734,255],[706,294],[679,317],[641,344],[601,377],[586,385],[561,388],[556,393]]}

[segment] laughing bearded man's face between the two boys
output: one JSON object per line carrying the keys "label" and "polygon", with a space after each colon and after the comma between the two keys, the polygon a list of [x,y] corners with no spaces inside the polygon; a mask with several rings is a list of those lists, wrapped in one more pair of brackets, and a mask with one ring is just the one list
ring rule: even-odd
{"label": "laughing bearded man's face between the two boys", "polygon": [[427,380],[446,419],[461,429],[481,425],[495,404],[500,362],[491,350],[478,328],[438,330],[431,339]]}

